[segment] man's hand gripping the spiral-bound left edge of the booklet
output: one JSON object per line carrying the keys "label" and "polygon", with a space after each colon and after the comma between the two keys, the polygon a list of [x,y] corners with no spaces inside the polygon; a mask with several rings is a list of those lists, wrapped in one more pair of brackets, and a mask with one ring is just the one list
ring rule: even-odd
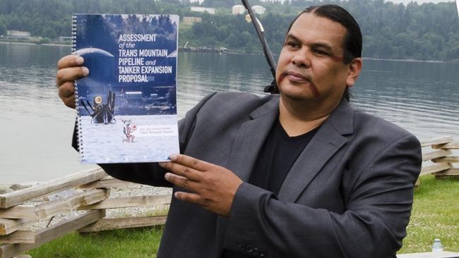
{"label": "man's hand gripping the spiral-bound left edge of the booklet", "polygon": [[73,80],[89,74],[88,68],[83,65],[83,57],[68,55],[57,62],[56,86],[59,89],[59,97],[66,106],[75,109],[75,92]]}

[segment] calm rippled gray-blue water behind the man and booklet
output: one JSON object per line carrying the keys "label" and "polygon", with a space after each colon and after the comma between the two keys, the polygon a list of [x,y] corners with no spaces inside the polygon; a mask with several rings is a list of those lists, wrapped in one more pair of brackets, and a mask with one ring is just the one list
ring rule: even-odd
{"label": "calm rippled gray-blue water behind the man and booklet", "polygon": [[[57,97],[56,61],[69,47],[0,44],[0,184],[44,181],[90,168],[71,148],[75,111]],[[181,53],[178,116],[210,92],[261,93],[263,56]],[[419,139],[459,140],[459,64],[364,60],[352,103]]]}

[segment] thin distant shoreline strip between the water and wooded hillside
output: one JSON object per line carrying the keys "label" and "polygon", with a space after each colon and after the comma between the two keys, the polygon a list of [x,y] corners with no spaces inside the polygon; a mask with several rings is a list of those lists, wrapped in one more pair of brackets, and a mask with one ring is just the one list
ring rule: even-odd
{"label": "thin distant shoreline strip between the water and wooded hillside", "polygon": [[[52,47],[71,47],[70,44],[61,44],[61,43],[35,43],[35,42],[12,42],[12,41],[5,41],[0,40],[0,44],[23,44],[23,45],[40,45],[40,46],[52,46]],[[205,49],[206,51],[203,51]],[[211,51],[210,51],[211,50]],[[256,51],[252,53],[245,53],[243,51],[237,51],[234,49],[228,49],[227,51],[219,51],[218,49],[207,49],[207,48],[196,48],[196,49],[186,49],[182,50],[184,52],[201,52],[201,53],[221,53],[221,54],[263,54],[261,51]],[[278,54],[274,54],[274,56],[278,56]],[[375,57],[362,57],[362,59],[366,60],[378,60],[378,61],[397,61],[397,62],[417,62],[417,63],[459,63],[459,60],[450,60],[450,61],[441,61],[441,60],[417,60],[417,59],[381,59]]]}

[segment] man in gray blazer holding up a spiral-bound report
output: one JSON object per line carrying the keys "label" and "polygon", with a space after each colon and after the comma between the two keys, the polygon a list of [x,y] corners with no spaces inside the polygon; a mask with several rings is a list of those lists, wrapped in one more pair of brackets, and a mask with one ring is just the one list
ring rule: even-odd
{"label": "man in gray blazer holding up a spiral-bound report", "polygon": [[[347,102],[361,51],[347,11],[309,7],[287,32],[279,96],[211,94],[179,122],[171,162],[101,165],[174,185],[158,257],[395,257],[421,152],[413,135]],[[77,61],[58,64],[68,106],[72,80],[88,74]]]}

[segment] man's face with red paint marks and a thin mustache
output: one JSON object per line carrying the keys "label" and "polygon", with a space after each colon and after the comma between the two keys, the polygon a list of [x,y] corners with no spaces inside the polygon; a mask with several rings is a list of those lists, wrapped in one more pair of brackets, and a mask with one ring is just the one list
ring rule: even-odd
{"label": "man's face with red paint marks and a thin mustache", "polygon": [[[303,13],[280,52],[276,80],[284,99],[338,104],[354,84],[352,63],[343,63],[346,29],[328,18]],[[358,73],[357,73],[358,75]]]}

